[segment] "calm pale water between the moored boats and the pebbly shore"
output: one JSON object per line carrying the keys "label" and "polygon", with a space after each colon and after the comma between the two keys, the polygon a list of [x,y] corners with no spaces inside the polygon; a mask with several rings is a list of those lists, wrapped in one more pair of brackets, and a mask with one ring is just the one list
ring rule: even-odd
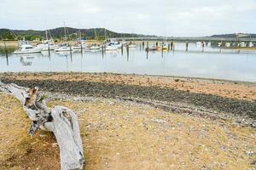
{"label": "calm pale water between the moored boats and the pebbly shore", "polygon": [[[175,44],[175,52],[149,52],[138,45],[130,48],[129,54],[119,49],[102,54],[84,52],[56,54],[0,54],[0,72],[4,71],[81,71],[136,73],[148,75],[208,77],[256,82],[256,52],[206,47],[184,43]],[[2,50],[3,51],[3,50]]]}

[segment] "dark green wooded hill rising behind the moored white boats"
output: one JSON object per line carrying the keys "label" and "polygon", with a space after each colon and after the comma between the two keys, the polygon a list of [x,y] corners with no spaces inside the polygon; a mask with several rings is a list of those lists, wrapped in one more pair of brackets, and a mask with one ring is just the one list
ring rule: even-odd
{"label": "dark green wooded hill rising behind the moored white boats", "polygon": [[[105,37],[105,29],[104,28],[90,28],[90,29],[77,29],[77,28],[71,28],[67,27],[67,35],[70,39],[76,39],[79,35],[79,31],[81,31],[82,37],[86,39],[97,39],[101,40]],[[95,37],[95,31],[96,31],[96,37]],[[55,29],[49,30],[51,36],[53,38],[61,39],[64,37],[64,28],[59,27]],[[118,33],[114,31],[106,30],[106,34],[108,38],[114,38],[114,37],[145,37],[148,35],[142,35],[142,34],[131,34],[131,33]],[[45,31],[36,31],[36,30],[9,30],[2,28],[0,29],[0,39],[4,40],[15,40],[15,39],[23,39],[23,37],[26,38],[26,40],[34,40],[34,39],[44,39],[45,37]],[[154,37],[154,36],[150,36]]]}

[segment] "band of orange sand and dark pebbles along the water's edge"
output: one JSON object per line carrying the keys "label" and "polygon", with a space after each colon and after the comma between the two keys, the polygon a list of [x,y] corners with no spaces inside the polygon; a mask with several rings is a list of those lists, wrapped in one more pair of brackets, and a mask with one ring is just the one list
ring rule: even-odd
{"label": "band of orange sand and dark pebbles along the water's edge", "polygon": [[[256,127],[256,83],[107,73],[1,73],[2,82],[46,93],[135,101],[176,113],[201,112]],[[221,118],[222,119],[222,118]]]}

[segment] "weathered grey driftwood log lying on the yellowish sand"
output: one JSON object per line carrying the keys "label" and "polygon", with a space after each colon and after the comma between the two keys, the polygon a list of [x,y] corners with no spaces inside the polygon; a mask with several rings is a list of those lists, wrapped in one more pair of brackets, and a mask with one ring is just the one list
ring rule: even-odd
{"label": "weathered grey driftwood log lying on the yellowish sand", "polygon": [[84,167],[84,152],[77,115],[64,106],[49,108],[38,88],[23,88],[14,83],[0,82],[0,91],[19,99],[32,121],[29,133],[38,128],[51,131],[60,148],[61,170],[79,170]]}

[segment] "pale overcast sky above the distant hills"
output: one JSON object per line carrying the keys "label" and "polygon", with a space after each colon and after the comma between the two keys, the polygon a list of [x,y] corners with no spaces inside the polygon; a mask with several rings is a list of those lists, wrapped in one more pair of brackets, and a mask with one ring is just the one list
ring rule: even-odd
{"label": "pale overcast sky above the distant hills", "polygon": [[0,0],[0,27],[106,27],[163,36],[256,33],[256,0]]}

